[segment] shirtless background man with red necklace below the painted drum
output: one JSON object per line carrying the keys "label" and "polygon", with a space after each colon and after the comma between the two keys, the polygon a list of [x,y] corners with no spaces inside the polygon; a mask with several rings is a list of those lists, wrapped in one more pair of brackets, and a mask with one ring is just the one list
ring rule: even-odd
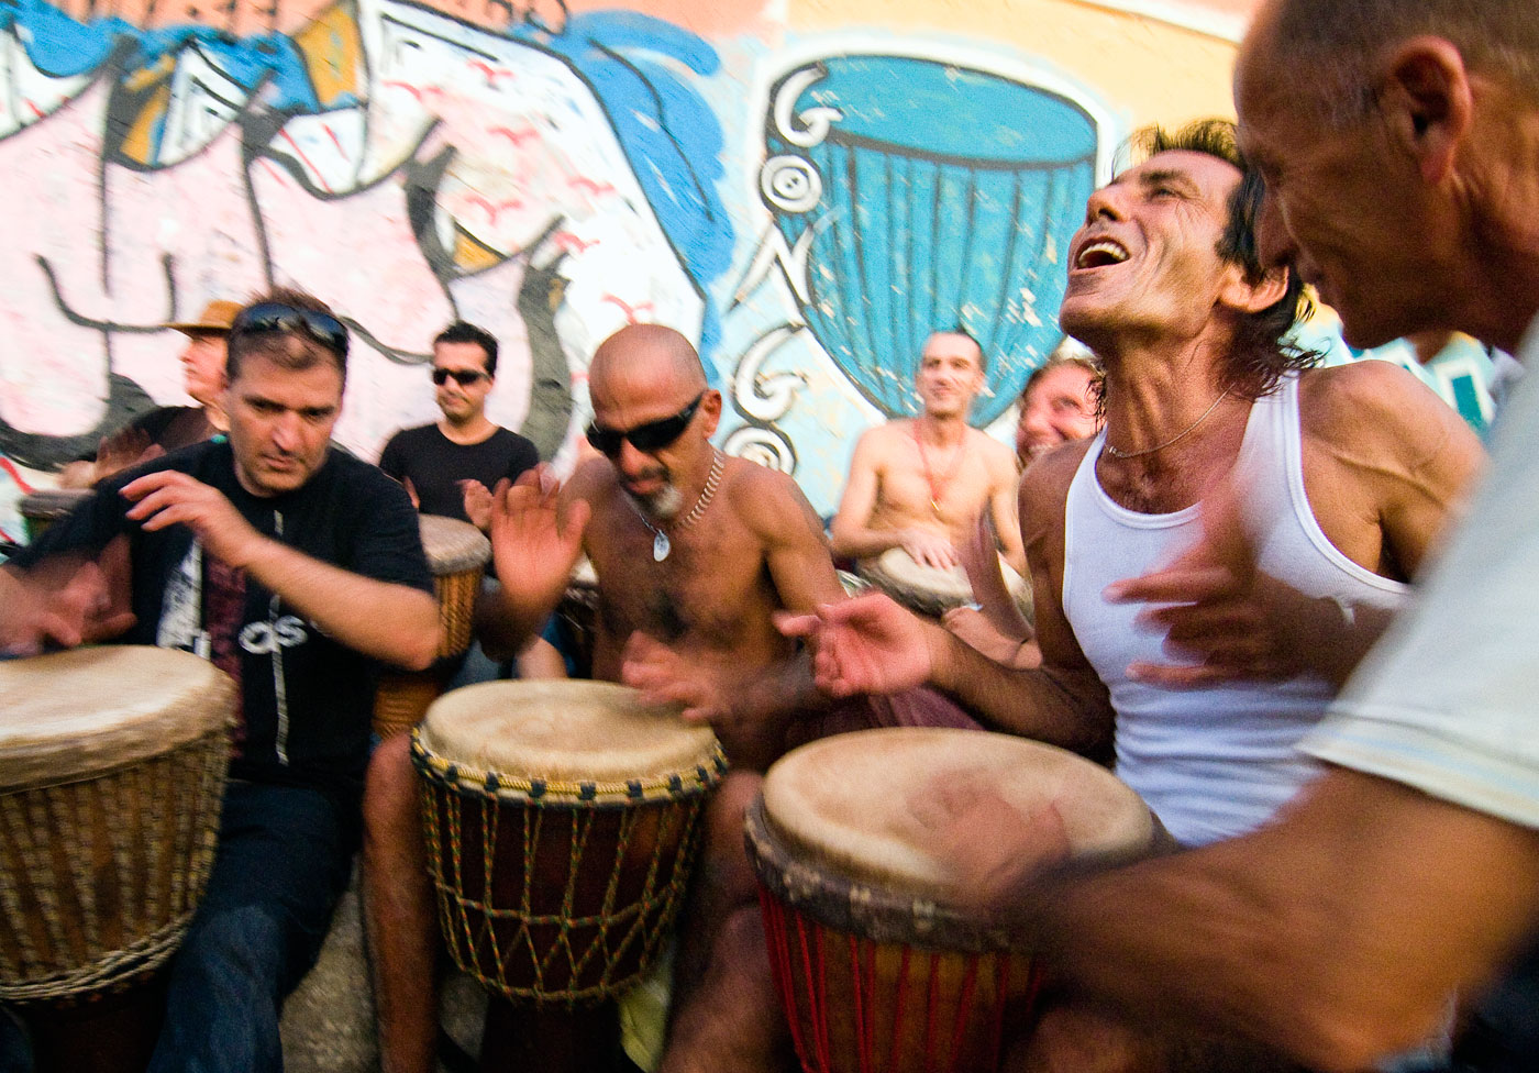
{"label": "shirtless background man with red necklace below the painted drum", "polygon": [[957,545],[988,508],[1000,553],[1025,573],[1010,448],[966,423],[983,389],[983,351],[960,329],[925,340],[914,377],[923,413],[868,430],[856,443],[850,483],[830,526],[836,556],[871,559],[903,548],[914,562],[950,570]]}

